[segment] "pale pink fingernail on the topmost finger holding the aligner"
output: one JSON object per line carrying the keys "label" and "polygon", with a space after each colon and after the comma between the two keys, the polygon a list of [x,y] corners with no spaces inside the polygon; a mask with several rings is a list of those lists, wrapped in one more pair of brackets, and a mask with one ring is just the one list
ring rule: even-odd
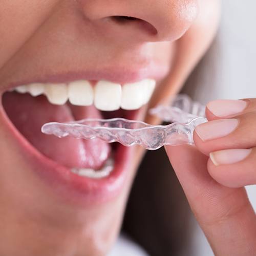
{"label": "pale pink fingernail on the topmost finger holding the aligner", "polygon": [[229,116],[239,114],[247,106],[247,102],[244,100],[214,100],[207,104],[208,110],[215,116]]}

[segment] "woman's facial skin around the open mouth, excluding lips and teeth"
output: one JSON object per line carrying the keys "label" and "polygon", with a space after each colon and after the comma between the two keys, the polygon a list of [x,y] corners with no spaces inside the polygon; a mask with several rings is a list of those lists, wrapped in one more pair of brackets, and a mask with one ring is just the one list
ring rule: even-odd
{"label": "woman's facial skin around the open mouth, excluding lips and teeth", "polygon": [[[117,24],[110,16],[146,23]],[[177,93],[208,48],[219,21],[217,0],[2,0],[0,92],[9,84],[83,70],[153,65],[158,87],[151,105]],[[86,78],[86,77],[85,77]],[[18,104],[18,103],[17,103]],[[140,119],[158,123],[146,115]],[[0,254],[105,255],[112,247],[143,150],[121,192],[100,204],[63,200],[36,175],[0,115]]]}

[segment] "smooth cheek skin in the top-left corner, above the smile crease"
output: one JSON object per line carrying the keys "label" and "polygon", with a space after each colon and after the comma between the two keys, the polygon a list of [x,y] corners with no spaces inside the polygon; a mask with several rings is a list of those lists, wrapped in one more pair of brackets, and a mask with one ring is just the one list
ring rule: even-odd
{"label": "smooth cheek skin in the top-left corner, above the smile crease", "polygon": [[[48,17],[57,0],[1,0],[0,69]],[[4,25],[3,25],[4,24]]]}

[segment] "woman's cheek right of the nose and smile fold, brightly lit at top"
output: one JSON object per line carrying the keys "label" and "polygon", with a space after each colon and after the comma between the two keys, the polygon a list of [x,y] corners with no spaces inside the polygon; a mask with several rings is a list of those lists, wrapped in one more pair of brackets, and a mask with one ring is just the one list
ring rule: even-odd
{"label": "woman's cheek right of the nose and smile fold, brightly lit at top", "polygon": [[[170,45],[169,73],[155,91],[151,100],[152,107],[168,104],[170,97],[179,93],[216,35],[220,21],[220,1],[198,0],[198,5],[200,11],[195,22],[179,40]],[[161,52],[162,49],[159,48],[158,51]],[[160,121],[148,115],[146,122],[157,124]]]}

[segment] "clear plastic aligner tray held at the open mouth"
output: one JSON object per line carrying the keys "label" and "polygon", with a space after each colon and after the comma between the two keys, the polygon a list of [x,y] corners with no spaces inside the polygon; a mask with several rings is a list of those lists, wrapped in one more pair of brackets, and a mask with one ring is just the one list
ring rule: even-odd
{"label": "clear plastic aligner tray held at the open mouth", "polygon": [[195,127],[207,121],[205,106],[178,95],[169,106],[150,110],[168,125],[150,125],[124,118],[83,119],[58,123],[50,122],[41,127],[42,133],[59,138],[72,136],[77,139],[99,138],[106,142],[119,142],[125,146],[141,145],[147,150],[157,150],[163,145],[193,144]]}

